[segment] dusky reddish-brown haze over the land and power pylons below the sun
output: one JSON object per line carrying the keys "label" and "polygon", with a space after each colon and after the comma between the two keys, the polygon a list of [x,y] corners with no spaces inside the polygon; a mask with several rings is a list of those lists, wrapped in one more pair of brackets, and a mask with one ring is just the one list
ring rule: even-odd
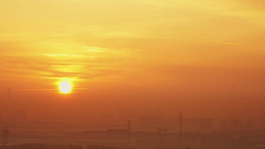
{"label": "dusky reddish-brown haze over the land and power pylons below the sun", "polygon": [[122,106],[129,105],[122,102],[91,103],[88,108],[85,101],[68,98],[64,105],[41,98],[26,102],[16,92],[6,90],[1,100],[0,149],[265,148],[264,119],[192,117],[178,109],[165,113],[154,105],[149,105],[153,111],[133,109],[133,104],[126,110]]}

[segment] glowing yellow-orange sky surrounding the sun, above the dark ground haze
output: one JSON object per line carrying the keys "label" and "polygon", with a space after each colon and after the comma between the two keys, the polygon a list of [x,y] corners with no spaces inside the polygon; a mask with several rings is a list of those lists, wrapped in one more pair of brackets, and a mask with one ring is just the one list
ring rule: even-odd
{"label": "glowing yellow-orange sky surrounding the sun, above the dark ground haze", "polygon": [[[11,88],[22,100],[58,105],[67,96],[172,115],[175,105],[191,115],[244,116],[252,109],[264,116],[257,105],[265,105],[264,6],[264,0],[1,0],[1,98]],[[71,95],[53,90],[60,80],[73,83]]]}

